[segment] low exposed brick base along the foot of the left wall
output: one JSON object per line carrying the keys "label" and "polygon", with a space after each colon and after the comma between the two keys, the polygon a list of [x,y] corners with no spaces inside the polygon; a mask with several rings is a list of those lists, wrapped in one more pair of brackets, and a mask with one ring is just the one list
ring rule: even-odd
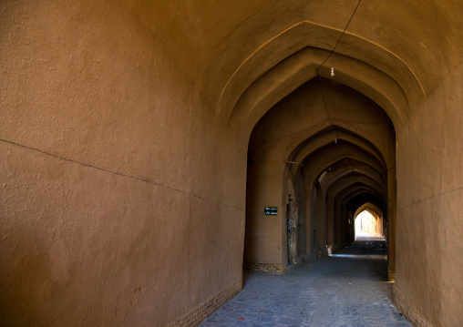
{"label": "low exposed brick base along the foot of the left wall", "polygon": [[194,327],[199,325],[200,322],[209,317],[213,312],[225,304],[225,302],[231,300],[231,298],[240,291],[242,291],[242,281],[237,281],[226,290],[212,297],[211,300],[202,303],[192,312],[170,323],[169,327]]}

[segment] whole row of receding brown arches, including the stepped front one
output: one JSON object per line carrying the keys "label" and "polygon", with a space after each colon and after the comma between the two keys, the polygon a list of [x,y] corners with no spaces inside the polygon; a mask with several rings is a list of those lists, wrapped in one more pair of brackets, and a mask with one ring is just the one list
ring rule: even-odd
{"label": "whole row of receding brown arches, including the stepped front one", "polygon": [[[373,197],[384,211],[394,280],[395,131],[409,107],[426,99],[425,87],[393,51],[312,21],[256,47],[217,99],[228,125],[250,135],[245,265],[278,263],[284,270],[287,262],[338,249],[353,240],[349,215],[365,204],[358,199]],[[288,107],[299,111],[285,117]],[[322,184],[343,162],[350,167],[345,175]],[[270,205],[280,207],[281,220],[262,221],[262,208]]]}

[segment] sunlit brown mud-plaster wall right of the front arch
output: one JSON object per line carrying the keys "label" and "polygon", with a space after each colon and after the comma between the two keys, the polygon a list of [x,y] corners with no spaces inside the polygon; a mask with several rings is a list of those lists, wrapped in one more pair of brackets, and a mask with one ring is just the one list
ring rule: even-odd
{"label": "sunlit brown mud-plaster wall right of the front arch", "polygon": [[463,322],[462,74],[460,64],[397,132],[396,288],[433,326]]}

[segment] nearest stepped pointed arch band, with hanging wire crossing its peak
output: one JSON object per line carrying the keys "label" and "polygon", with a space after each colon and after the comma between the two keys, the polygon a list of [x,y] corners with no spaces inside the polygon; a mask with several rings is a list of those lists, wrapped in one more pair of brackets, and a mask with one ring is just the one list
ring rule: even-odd
{"label": "nearest stepped pointed arch band, with hanging wire crossing its peak", "polygon": [[[217,112],[231,126],[253,127],[283,97],[316,76],[342,30],[314,22],[299,22],[259,46],[232,73],[221,90]],[[323,39],[320,38],[323,36]],[[346,33],[325,66],[322,77],[336,69],[335,80],[370,97],[400,127],[409,103],[422,100],[425,90],[410,66],[383,46]]]}

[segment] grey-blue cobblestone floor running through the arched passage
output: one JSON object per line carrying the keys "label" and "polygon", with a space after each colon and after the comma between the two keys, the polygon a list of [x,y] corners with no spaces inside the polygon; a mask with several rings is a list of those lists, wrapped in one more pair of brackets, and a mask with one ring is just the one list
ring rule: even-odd
{"label": "grey-blue cobblestone floor running through the arched passage", "polygon": [[411,326],[391,303],[385,250],[364,238],[286,275],[245,271],[242,292],[200,326]]}

